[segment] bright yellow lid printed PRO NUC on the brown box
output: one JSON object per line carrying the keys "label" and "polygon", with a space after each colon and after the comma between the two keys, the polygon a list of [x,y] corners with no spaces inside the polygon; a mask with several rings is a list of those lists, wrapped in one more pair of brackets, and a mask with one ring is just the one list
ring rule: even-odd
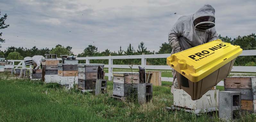
{"label": "bright yellow lid printed PRO NUC on the brown box", "polygon": [[167,57],[167,65],[198,82],[242,53],[240,46],[215,40]]}

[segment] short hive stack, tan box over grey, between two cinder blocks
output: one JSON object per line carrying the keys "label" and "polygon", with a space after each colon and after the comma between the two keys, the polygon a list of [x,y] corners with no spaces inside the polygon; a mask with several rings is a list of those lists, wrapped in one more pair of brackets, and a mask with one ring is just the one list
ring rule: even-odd
{"label": "short hive stack, tan box over grey, between two cinder blocks", "polygon": [[130,94],[137,94],[139,73],[113,72],[113,97],[126,97]]}

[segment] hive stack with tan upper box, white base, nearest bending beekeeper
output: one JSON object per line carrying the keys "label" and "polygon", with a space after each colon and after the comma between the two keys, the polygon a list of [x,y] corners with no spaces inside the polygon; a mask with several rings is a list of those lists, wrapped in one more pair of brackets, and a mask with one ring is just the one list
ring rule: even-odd
{"label": "hive stack with tan upper box, white base, nearest bending beekeeper", "polygon": [[58,63],[56,54],[45,54],[45,60],[42,61],[42,80],[44,82],[58,82]]}

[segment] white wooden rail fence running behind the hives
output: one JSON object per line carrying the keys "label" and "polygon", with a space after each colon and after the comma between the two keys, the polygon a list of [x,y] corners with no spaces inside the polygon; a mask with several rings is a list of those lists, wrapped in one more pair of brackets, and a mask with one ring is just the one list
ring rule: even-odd
{"label": "white wooden rail fence running behind the hives", "polygon": [[[108,68],[108,73],[105,75],[108,76],[108,80],[112,80],[113,77],[113,68],[130,68],[130,65],[113,65],[114,59],[141,59],[141,65],[133,65],[133,69],[138,69],[138,66],[145,67],[146,69],[154,70],[171,70],[172,68],[168,65],[146,65],[148,58],[167,58],[171,54],[151,54],[151,55],[129,55],[129,56],[100,56],[100,57],[77,57],[77,60],[86,60],[86,63],[89,64],[90,60],[102,60],[108,59],[108,65],[104,67]],[[240,56],[256,56],[256,50],[243,50],[243,53]],[[61,59],[60,59],[61,60]],[[23,60],[8,60],[14,62],[20,62],[17,66],[22,66],[25,68]],[[231,72],[256,72],[256,66],[233,66]],[[162,81],[173,81],[173,78],[162,77]],[[223,84],[223,83],[221,83]],[[221,85],[223,86],[223,85]]]}

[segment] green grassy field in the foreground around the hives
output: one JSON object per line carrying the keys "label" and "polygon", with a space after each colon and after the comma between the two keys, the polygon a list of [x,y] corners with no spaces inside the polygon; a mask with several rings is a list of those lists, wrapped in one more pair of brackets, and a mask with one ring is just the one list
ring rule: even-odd
{"label": "green grassy field in the foreground around the hives", "polygon": [[[218,122],[216,113],[195,114],[184,111],[167,111],[173,104],[171,82],[153,87],[150,103],[139,105],[136,98],[126,102],[111,98],[113,82],[107,83],[107,94],[82,94],[76,89],[41,81],[10,78],[0,73],[0,121],[122,121],[122,122]],[[217,87],[223,90],[223,87]],[[252,122],[255,114],[245,114],[238,121]]]}

